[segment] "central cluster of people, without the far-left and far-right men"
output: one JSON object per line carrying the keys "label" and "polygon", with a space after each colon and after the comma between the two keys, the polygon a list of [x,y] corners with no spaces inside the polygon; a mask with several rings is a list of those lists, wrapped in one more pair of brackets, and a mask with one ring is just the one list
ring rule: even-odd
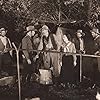
{"label": "central cluster of people, without the far-left and far-right men", "polygon": [[[54,83],[66,84],[79,81],[79,57],[67,53],[85,53],[83,40],[85,33],[82,30],[77,30],[72,39],[70,34],[63,33],[61,27],[57,28],[56,33],[51,33],[49,27],[43,25],[39,29],[40,37],[36,38],[34,37],[37,35],[37,30],[34,26],[28,26],[26,29],[26,36],[22,39],[22,49],[23,57],[26,59],[25,65],[28,68],[26,71],[30,76],[31,73],[38,73],[39,69],[47,69],[52,70]],[[38,40],[37,47],[35,39]]]}

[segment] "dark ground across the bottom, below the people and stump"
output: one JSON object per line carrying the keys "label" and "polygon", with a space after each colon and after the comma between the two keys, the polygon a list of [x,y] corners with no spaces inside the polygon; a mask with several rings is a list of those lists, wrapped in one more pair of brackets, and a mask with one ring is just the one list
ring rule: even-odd
{"label": "dark ground across the bottom, below the people and stump", "polygon": [[[99,84],[99,83],[98,83]],[[77,85],[40,85],[36,82],[21,85],[22,100],[39,97],[40,100],[96,100],[99,85],[84,80]],[[0,100],[18,100],[18,85],[0,87]]]}

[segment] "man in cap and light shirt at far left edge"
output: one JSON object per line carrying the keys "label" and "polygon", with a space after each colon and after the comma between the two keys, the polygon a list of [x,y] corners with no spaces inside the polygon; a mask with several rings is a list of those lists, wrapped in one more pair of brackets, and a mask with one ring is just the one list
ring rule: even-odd
{"label": "man in cap and light shirt at far left edge", "polygon": [[[0,71],[5,70],[5,66],[11,65],[11,42],[6,37],[7,30],[0,28]],[[3,72],[3,71],[2,71]]]}

